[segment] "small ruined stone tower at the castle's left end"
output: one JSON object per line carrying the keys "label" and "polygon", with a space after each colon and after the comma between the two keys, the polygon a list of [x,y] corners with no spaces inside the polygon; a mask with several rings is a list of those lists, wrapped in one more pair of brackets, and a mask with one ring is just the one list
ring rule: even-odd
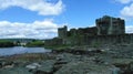
{"label": "small ruined stone tower at the castle's left end", "polygon": [[68,27],[66,25],[58,29],[58,36],[60,39],[64,39],[64,38],[66,38],[66,35],[68,35]]}

